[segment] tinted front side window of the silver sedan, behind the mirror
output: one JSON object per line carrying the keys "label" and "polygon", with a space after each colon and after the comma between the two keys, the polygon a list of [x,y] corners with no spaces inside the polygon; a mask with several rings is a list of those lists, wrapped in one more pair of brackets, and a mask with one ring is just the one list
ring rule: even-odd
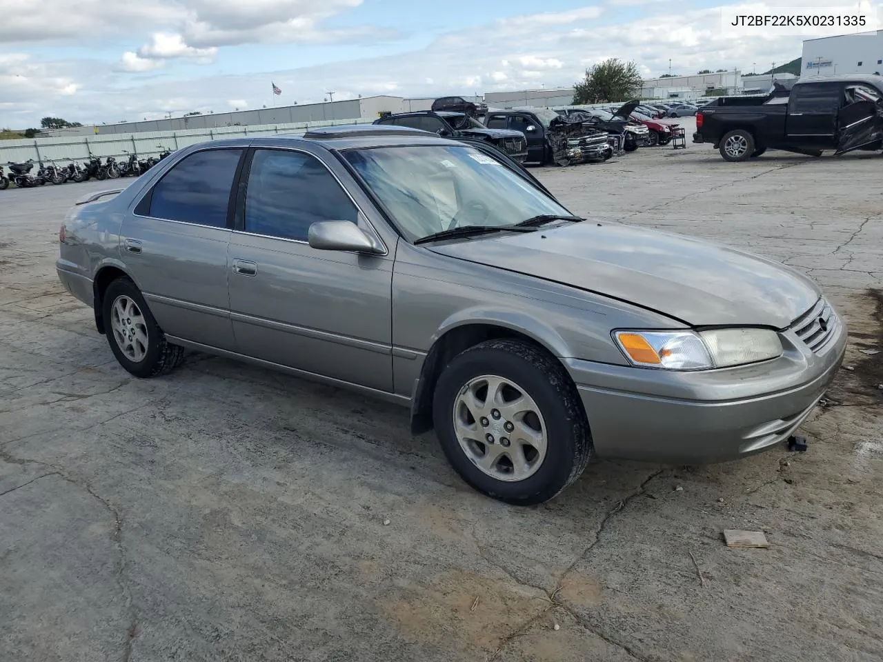
{"label": "tinted front side window of the silver sedan, behind the mirror", "polygon": [[314,222],[357,222],[358,210],[315,156],[259,149],[245,190],[245,231],[306,241]]}

